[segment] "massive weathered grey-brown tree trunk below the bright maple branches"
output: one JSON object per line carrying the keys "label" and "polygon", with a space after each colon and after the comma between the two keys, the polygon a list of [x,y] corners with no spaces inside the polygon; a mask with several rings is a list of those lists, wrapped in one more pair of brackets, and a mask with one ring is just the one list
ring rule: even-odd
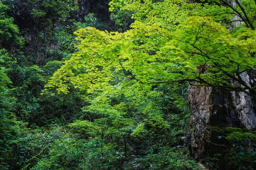
{"label": "massive weathered grey-brown tree trunk below the bright maple branches", "polygon": [[[242,78],[255,86],[255,74],[244,73]],[[190,148],[198,161],[224,150],[227,145],[227,141],[219,139],[220,134],[209,127],[256,127],[256,102],[246,93],[191,85],[188,100],[193,129]]]}

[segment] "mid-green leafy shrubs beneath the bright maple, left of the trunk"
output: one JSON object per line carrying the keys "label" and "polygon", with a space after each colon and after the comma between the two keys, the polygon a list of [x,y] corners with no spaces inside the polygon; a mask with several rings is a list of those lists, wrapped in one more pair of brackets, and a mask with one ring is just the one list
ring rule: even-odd
{"label": "mid-green leafy shrubs beneath the bright maple, left of the trunk", "polygon": [[[137,91],[119,88],[86,95],[82,120],[66,127],[73,140],[56,143],[59,146],[49,148],[49,154],[32,169],[68,170],[67,159],[78,170],[197,169],[184,146],[189,111],[183,86],[186,84]],[[63,145],[65,151],[59,151]]]}

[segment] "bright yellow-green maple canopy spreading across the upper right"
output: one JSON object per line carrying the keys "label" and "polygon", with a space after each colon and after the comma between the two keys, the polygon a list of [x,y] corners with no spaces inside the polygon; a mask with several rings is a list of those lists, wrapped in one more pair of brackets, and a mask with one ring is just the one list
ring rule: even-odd
{"label": "bright yellow-green maple canopy spreading across the upper right", "polygon": [[[114,2],[119,1],[110,5]],[[230,10],[239,9],[245,15],[248,11],[253,16],[252,1],[243,1],[231,9],[171,0],[123,3],[121,8],[135,11],[132,29],[109,33],[87,27],[75,32],[78,51],[55,72],[46,87],[66,93],[71,83],[74,88],[95,93],[117,86],[150,88],[159,83],[189,81],[256,97],[255,86],[242,78],[245,72],[255,73],[256,32],[246,22],[235,31],[224,23],[232,17]],[[141,10],[136,11],[138,6]],[[199,9],[217,17],[206,16]],[[227,15],[221,14],[227,10]],[[255,23],[253,17],[248,19]]]}

